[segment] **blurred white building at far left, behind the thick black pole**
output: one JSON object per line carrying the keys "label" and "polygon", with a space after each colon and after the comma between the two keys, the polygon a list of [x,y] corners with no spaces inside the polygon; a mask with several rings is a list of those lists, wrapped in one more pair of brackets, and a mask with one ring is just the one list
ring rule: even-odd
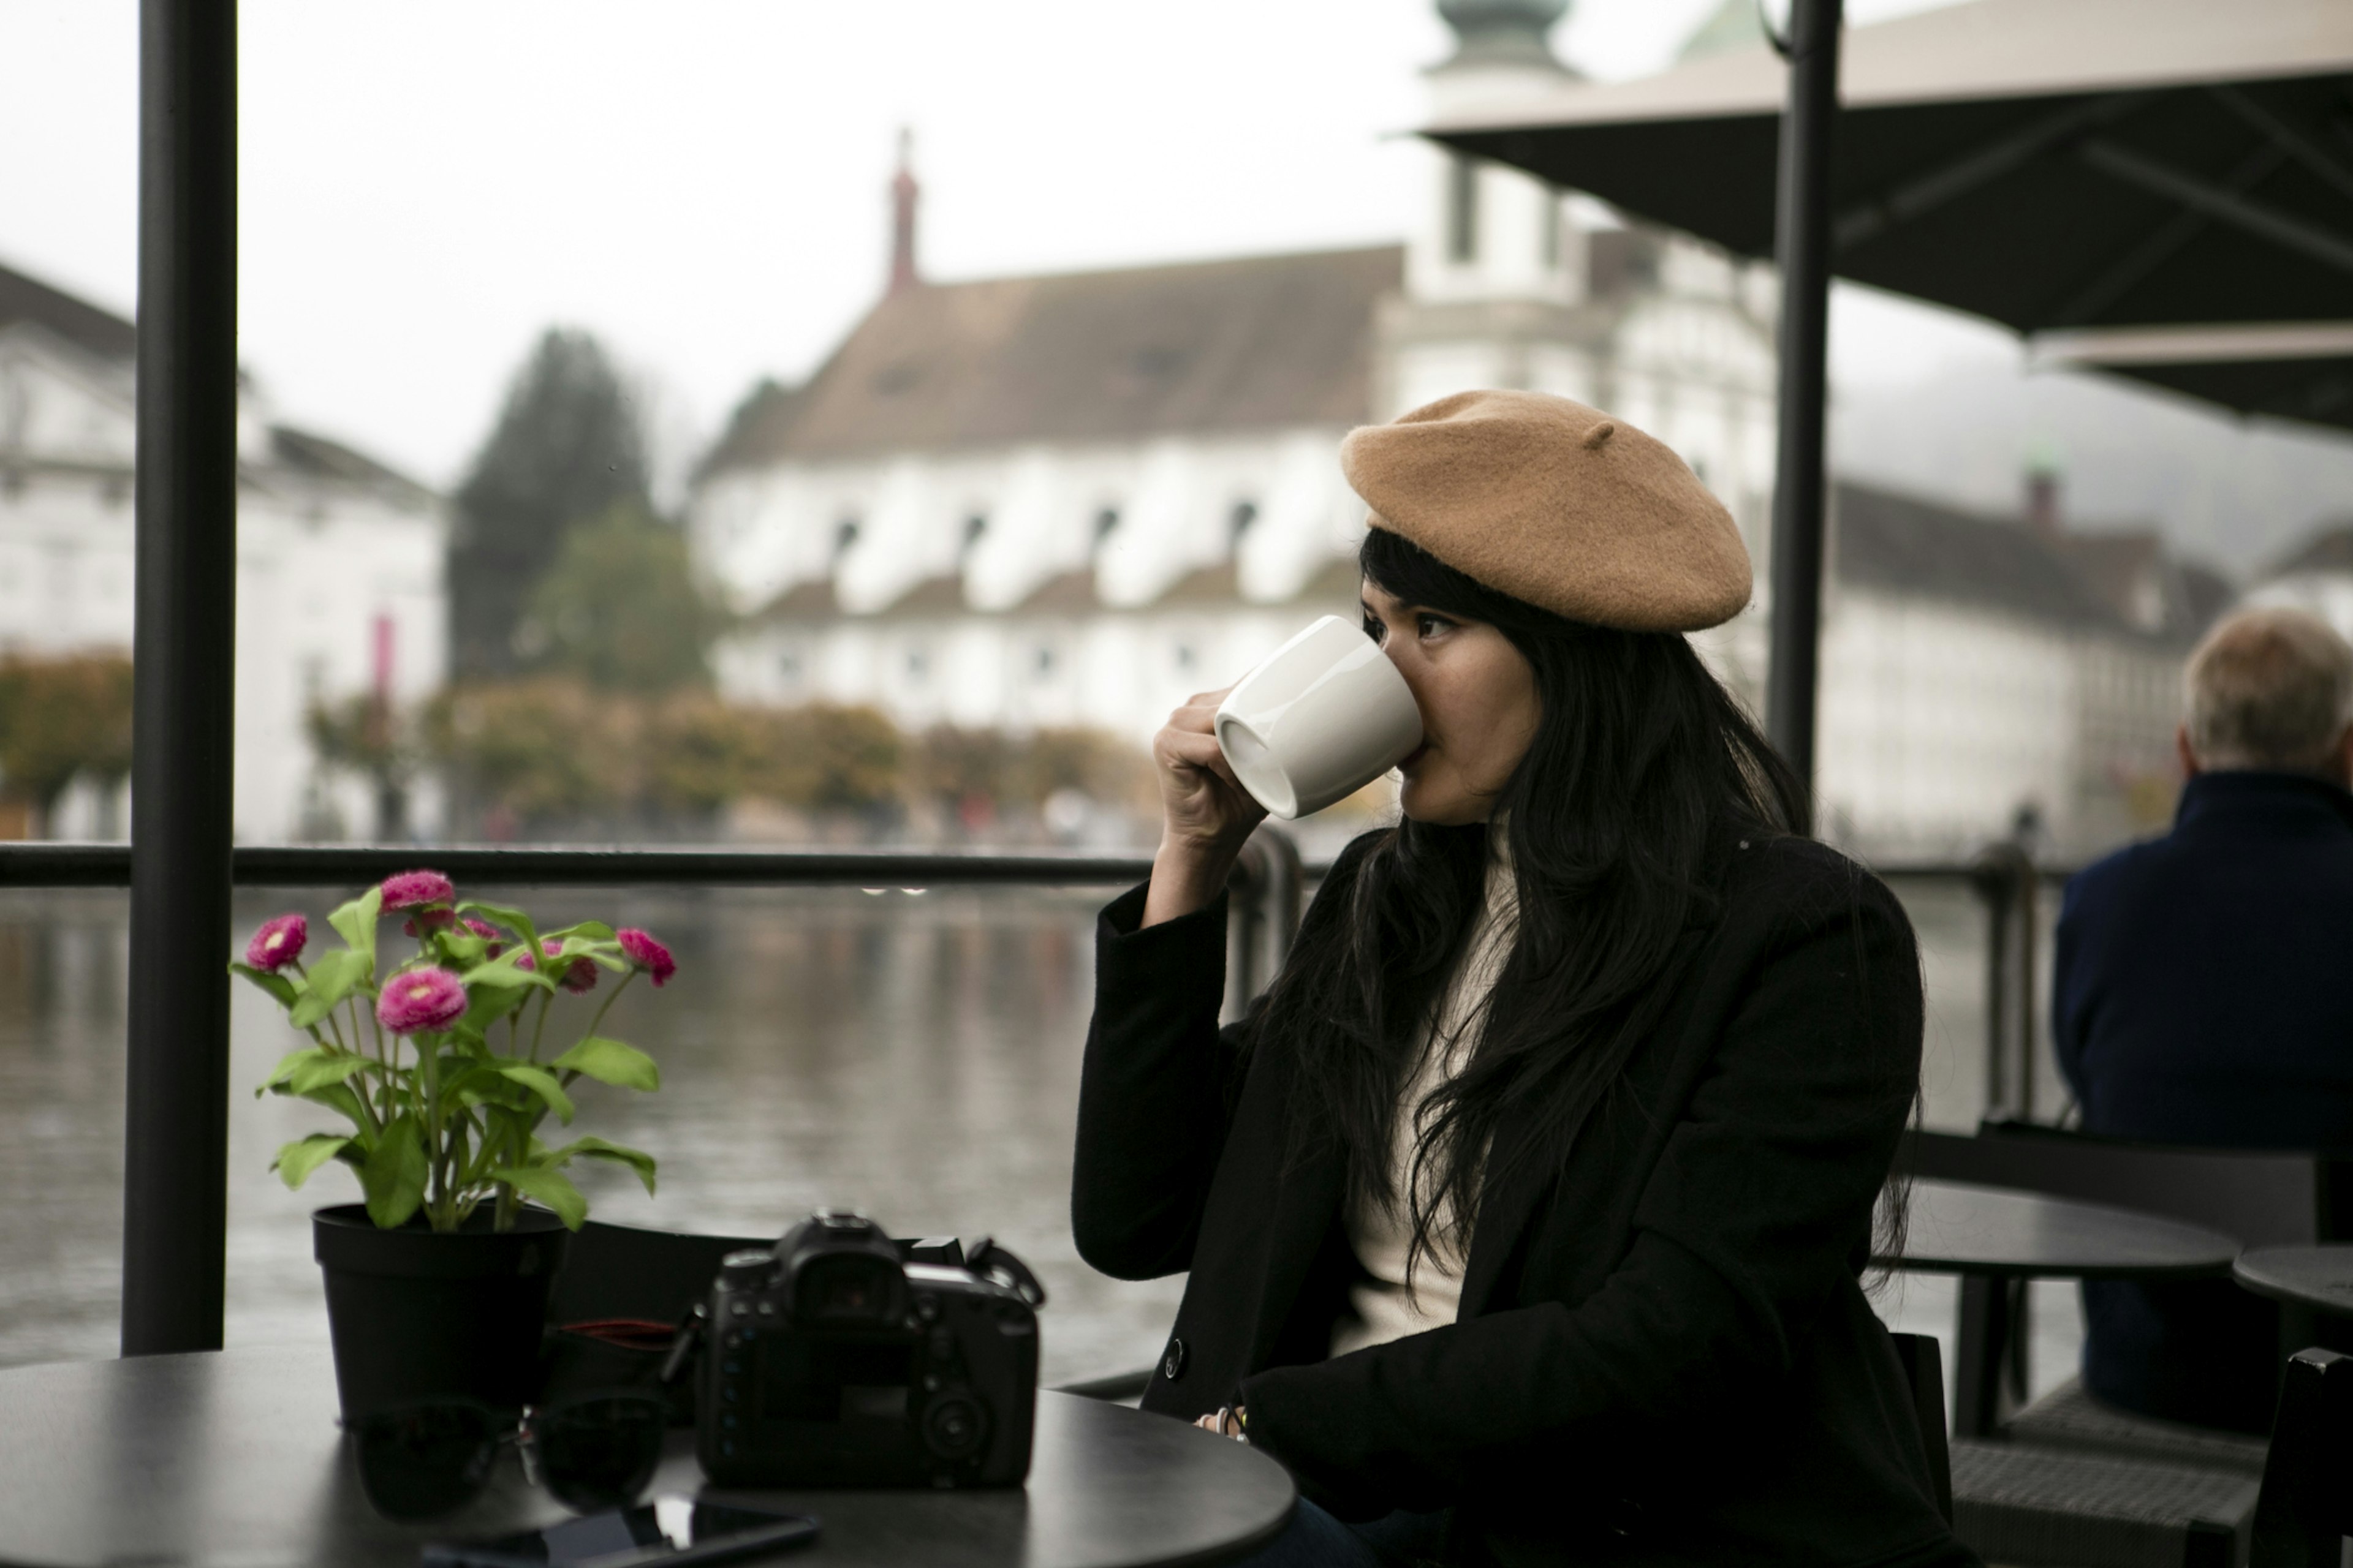
{"label": "blurred white building at far left, behind the thick black pole", "polygon": [[[132,646],[132,324],[0,268],[0,654]],[[442,682],[445,522],[421,484],[238,409],[235,832],[369,835],[376,790],[322,769],[306,715]],[[431,802],[424,802],[426,806]],[[49,837],[120,837],[118,790],[78,785]]]}

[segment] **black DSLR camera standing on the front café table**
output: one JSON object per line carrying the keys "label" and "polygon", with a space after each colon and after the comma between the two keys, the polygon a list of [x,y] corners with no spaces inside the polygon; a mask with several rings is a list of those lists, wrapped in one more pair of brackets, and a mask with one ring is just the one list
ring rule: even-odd
{"label": "black DSLR camera standing on the front caf\u00e9 table", "polygon": [[729,1253],[708,1312],[696,1458],[718,1486],[1028,1476],[1038,1314],[955,1241],[896,1244],[821,1208],[774,1248]]}

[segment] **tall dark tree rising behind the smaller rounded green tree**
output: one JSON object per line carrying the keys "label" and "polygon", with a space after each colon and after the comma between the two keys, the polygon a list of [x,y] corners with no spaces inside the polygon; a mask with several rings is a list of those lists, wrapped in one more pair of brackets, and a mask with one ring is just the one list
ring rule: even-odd
{"label": "tall dark tree rising behind the smaller rounded green tree", "polygon": [[518,668],[515,630],[565,531],[616,501],[647,505],[645,433],[605,348],[551,327],[515,371],[496,428],[456,491],[449,668]]}

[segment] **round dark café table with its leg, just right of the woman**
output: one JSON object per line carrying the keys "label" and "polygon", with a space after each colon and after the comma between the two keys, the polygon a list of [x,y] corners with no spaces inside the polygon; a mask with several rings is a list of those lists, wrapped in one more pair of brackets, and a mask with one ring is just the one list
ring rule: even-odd
{"label": "round dark caf\u00e9 table with its leg, just right of the woman", "polygon": [[2005,1347],[2024,1342],[2012,1324],[2012,1281],[2200,1279],[2228,1272],[2235,1255],[2238,1241],[2221,1232],[2132,1208],[1915,1180],[1904,1253],[1875,1262],[1962,1276],[1953,1432],[1991,1436],[2002,1422]]}

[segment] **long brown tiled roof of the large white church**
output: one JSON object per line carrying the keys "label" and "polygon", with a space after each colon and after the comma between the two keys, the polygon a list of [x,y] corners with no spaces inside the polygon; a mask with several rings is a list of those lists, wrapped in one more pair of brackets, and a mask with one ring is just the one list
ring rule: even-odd
{"label": "long brown tiled roof of the large white church", "polygon": [[1402,277],[1384,244],[901,289],[807,386],[748,400],[704,473],[1362,423],[1374,313]]}

